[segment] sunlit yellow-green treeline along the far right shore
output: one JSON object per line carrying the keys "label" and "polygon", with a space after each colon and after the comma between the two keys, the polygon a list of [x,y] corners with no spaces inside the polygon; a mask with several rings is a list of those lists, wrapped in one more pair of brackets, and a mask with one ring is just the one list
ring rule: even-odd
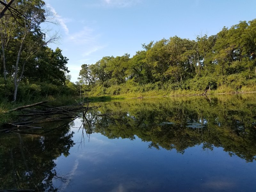
{"label": "sunlit yellow-green treeline along the far right shore", "polygon": [[82,65],[92,95],[150,90],[255,90],[256,20],[240,21],[196,40],[178,36],[142,44],[144,50]]}

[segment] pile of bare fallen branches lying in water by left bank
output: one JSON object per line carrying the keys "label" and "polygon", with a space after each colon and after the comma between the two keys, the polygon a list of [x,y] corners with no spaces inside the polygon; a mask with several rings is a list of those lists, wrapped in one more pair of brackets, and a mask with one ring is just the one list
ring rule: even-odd
{"label": "pile of bare fallen branches lying in water by left bank", "polygon": [[[18,115],[18,117],[20,117],[18,119],[21,119],[21,117],[23,119],[15,123],[0,124],[0,132],[7,133],[7,132],[17,132],[17,131],[20,132],[20,131],[26,131],[26,130],[42,130],[43,127],[30,126],[30,125],[44,123],[44,122],[63,121],[65,119],[66,120],[70,119],[68,120],[68,123],[70,123],[77,117],[80,117],[80,114],[83,114],[83,118],[84,118],[88,110],[97,109],[98,107],[100,107],[100,106],[89,107],[88,100],[86,102],[81,101],[80,103],[76,101],[76,103],[72,103],[71,105],[61,106],[61,107],[45,105],[45,103],[50,103],[54,101],[56,100],[42,101],[42,102],[21,106],[21,107],[6,111],[5,113],[20,111],[22,114]],[[39,106],[39,108],[38,107],[33,108],[35,106]],[[67,124],[67,121],[65,124]],[[61,127],[63,127],[64,125],[61,125]]]}

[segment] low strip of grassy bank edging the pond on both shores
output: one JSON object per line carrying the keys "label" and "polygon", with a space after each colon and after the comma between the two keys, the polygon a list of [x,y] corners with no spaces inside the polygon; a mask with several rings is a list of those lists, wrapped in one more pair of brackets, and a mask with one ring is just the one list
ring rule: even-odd
{"label": "low strip of grassy bank edging the pond on both shores", "polygon": [[[228,90],[226,92],[220,92],[220,90],[208,90],[205,92],[202,91],[190,91],[190,90],[176,90],[172,92],[166,92],[164,90],[152,90],[148,92],[130,92],[125,94],[119,94],[119,95],[99,95],[99,96],[91,96],[90,92],[88,93],[88,100],[91,100],[93,102],[95,101],[106,101],[106,100],[117,100],[117,99],[143,99],[143,98],[159,98],[159,97],[189,97],[189,96],[202,96],[202,95],[220,95],[220,94],[245,94],[245,93],[256,93],[256,91],[230,91]],[[13,122],[17,118],[17,116],[20,114],[20,112],[13,111],[10,113],[6,113],[6,111],[9,111],[13,108],[18,108],[20,106],[25,106],[29,104],[33,104],[36,102],[40,102],[43,100],[48,101],[54,101],[52,103],[53,106],[61,106],[66,105],[67,103],[72,103],[76,101],[80,101],[80,99],[83,100],[83,98],[80,98],[78,96],[76,97],[67,97],[67,96],[59,96],[57,98],[49,96],[49,97],[40,97],[32,101],[26,101],[26,102],[16,102],[11,103],[8,101],[2,101],[0,103],[0,124]]]}

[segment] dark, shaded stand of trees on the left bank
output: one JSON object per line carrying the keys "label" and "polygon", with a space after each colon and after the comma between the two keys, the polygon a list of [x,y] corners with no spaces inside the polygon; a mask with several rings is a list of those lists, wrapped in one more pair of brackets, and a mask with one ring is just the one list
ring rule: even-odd
{"label": "dark, shaded stand of trees on the left bank", "polygon": [[[47,22],[54,22],[42,0],[16,0],[0,19],[0,98],[15,101],[76,91],[65,74],[68,59],[47,46],[58,41]],[[42,25],[45,24],[45,25]],[[46,26],[46,27],[45,27]],[[67,86],[67,85],[68,86]]]}

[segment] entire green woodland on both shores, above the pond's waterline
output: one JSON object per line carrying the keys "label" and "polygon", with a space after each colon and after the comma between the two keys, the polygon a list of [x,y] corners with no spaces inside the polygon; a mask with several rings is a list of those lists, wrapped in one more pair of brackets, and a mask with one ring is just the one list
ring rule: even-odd
{"label": "entire green woodland on both shores, above the pond's waterline", "polygon": [[[125,98],[256,90],[255,19],[196,40],[173,36],[144,43],[132,57],[105,56],[83,64],[78,81],[72,83],[68,58],[60,48],[48,47],[60,39],[43,27],[54,18],[44,1],[10,2],[0,19],[2,102],[71,97],[81,87],[89,97]],[[5,5],[1,3],[1,10]]]}

